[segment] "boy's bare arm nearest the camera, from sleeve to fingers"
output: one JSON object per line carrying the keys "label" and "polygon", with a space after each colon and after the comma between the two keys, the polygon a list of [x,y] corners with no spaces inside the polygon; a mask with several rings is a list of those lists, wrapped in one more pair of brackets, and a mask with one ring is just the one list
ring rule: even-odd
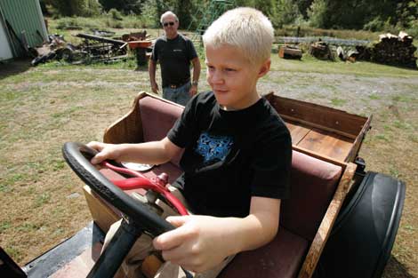
{"label": "boy's bare arm nearest the camera, from sleeve to fingers", "polygon": [[204,272],[230,255],[253,250],[277,234],[280,200],[253,197],[245,218],[187,216],[167,218],[177,229],[161,234],[154,247],[163,257],[194,272]]}

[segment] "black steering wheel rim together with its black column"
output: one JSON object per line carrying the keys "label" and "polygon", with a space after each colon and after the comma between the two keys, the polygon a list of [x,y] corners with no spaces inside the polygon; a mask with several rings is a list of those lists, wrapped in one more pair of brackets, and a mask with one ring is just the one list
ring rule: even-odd
{"label": "black steering wheel rim together with its black column", "polygon": [[62,155],[76,175],[91,187],[94,193],[125,214],[122,225],[87,276],[110,278],[117,272],[133,243],[144,231],[155,237],[173,230],[174,226],[144,204],[126,195],[122,189],[104,177],[90,163],[96,154],[96,150],[81,143],[67,142],[62,147]]}

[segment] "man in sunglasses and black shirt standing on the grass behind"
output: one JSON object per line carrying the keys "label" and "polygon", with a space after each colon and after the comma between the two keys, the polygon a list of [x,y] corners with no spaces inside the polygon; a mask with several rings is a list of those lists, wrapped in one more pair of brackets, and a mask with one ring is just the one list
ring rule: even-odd
{"label": "man in sunglasses and black shirt standing on the grass behind", "polygon": [[[153,92],[159,92],[156,82],[156,68],[159,61],[163,98],[184,106],[197,93],[200,61],[193,43],[177,32],[179,19],[173,12],[165,12],[160,22],[165,35],[157,38],[149,60],[151,88]],[[193,64],[192,80],[190,80],[190,61]]]}

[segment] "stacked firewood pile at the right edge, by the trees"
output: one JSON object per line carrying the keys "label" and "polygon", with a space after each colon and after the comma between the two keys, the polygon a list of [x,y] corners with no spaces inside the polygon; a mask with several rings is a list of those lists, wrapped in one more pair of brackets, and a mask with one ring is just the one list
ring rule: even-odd
{"label": "stacked firewood pile at the right edge, by the trees", "polygon": [[414,55],[416,47],[413,44],[413,37],[405,32],[398,36],[390,33],[379,36],[379,42],[372,47],[357,47],[360,60],[370,60],[376,63],[401,66],[406,68],[417,68]]}

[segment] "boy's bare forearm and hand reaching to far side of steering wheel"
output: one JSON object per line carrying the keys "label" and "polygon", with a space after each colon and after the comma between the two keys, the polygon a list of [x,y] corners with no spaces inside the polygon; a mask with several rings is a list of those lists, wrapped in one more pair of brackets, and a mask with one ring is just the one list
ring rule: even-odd
{"label": "boy's bare forearm and hand reaching to far side of steering wheel", "polygon": [[90,142],[88,147],[99,151],[92,158],[92,163],[97,164],[106,159],[119,162],[162,164],[169,162],[174,155],[180,153],[181,148],[166,138],[159,141],[140,144],[105,144],[101,142]]}

